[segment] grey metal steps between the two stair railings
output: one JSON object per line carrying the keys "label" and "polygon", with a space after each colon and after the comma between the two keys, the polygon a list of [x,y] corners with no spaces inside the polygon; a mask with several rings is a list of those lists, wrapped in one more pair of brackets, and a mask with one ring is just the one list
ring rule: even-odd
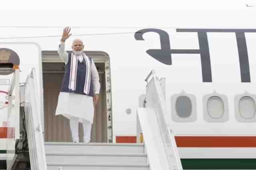
{"label": "grey metal steps between the two stair railings", "polygon": [[45,143],[48,170],[149,170],[143,144]]}

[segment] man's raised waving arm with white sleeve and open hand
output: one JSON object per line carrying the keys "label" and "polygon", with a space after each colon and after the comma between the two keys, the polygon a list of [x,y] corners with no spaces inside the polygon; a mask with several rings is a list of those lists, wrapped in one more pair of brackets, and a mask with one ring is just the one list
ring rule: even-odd
{"label": "man's raised waving arm with white sleeve and open hand", "polygon": [[58,54],[60,55],[60,58],[62,59],[62,61],[65,62],[65,64],[68,63],[68,53],[65,51],[65,41],[70,37],[70,35],[71,35],[70,28],[65,27],[63,29],[62,37],[60,39],[61,43],[58,48]]}

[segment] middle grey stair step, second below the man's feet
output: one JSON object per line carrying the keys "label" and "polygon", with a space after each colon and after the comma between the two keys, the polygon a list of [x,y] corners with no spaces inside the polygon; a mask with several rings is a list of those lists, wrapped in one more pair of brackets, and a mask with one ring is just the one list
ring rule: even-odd
{"label": "middle grey stair step, second below the man's feet", "polygon": [[106,163],[106,164],[146,164],[146,154],[76,154],[48,153],[47,163]]}

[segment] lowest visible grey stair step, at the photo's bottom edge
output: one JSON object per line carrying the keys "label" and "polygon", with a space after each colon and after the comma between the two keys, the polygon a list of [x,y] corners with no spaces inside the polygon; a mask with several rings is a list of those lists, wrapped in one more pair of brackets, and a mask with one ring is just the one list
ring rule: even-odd
{"label": "lowest visible grey stair step, at the photo's bottom edge", "polygon": [[67,163],[49,163],[47,164],[47,170],[59,170],[62,167],[63,170],[149,170],[149,166],[146,164],[141,165],[116,165],[116,164],[67,164]]}

